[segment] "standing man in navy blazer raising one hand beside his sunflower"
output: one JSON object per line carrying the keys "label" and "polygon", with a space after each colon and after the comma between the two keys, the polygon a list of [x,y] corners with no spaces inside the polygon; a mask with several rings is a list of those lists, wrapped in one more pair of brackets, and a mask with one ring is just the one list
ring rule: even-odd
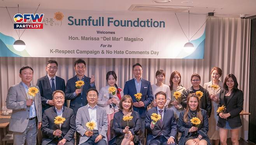
{"label": "standing man in navy blazer raising one hand beside his sunflower", "polygon": [[[70,100],[69,108],[73,109],[76,115],[78,108],[88,104],[86,99],[87,90],[91,87],[96,87],[94,83],[94,76],[92,75],[92,77],[89,78],[84,75],[86,70],[86,63],[84,60],[77,59],[74,63],[74,69],[76,75],[67,81],[65,95],[66,100]],[[80,89],[75,87],[75,82],[78,80],[84,81],[84,86],[82,86]]]}

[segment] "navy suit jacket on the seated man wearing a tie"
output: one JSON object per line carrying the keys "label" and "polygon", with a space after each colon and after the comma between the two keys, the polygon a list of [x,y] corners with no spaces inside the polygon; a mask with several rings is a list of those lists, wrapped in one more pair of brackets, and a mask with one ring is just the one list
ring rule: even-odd
{"label": "navy suit jacket on the seated man wearing a tie", "polygon": [[151,108],[147,112],[147,117],[145,121],[145,128],[148,130],[149,133],[147,136],[147,145],[149,145],[151,140],[156,138],[158,135],[163,134],[163,136],[165,136],[167,140],[170,136],[173,136],[175,138],[177,133],[177,124],[173,110],[165,107],[162,124],[160,124],[160,121],[157,121],[154,128],[151,129],[150,124],[153,121],[151,119],[151,114],[153,113],[158,114],[157,107]]}

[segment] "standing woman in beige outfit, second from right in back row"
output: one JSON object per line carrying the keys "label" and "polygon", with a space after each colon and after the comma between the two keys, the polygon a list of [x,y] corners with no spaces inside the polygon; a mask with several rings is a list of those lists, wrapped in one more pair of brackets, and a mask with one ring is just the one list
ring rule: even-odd
{"label": "standing woman in beige outfit, second from right in back row", "polygon": [[[203,87],[209,92],[210,99],[212,101],[212,112],[209,118],[208,136],[212,141],[212,144],[214,143],[214,145],[219,145],[219,127],[217,126],[219,117],[217,116],[216,110],[218,109],[219,104],[219,93],[221,92],[221,89],[223,89],[223,82],[219,80],[222,75],[222,70],[218,67],[213,67],[210,74],[212,80],[203,85]],[[217,88],[214,88],[214,85],[216,85]]]}

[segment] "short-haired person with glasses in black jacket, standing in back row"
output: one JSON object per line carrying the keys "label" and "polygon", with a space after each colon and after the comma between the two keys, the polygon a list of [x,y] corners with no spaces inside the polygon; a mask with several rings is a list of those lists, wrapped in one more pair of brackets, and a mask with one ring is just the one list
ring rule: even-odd
{"label": "short-haired person with glasses in black jacket, standing in back row", "polygon": [[182,96],[181,105],[183,108],[187,107],[187,98],[190,93],[196,93],[196,91],[201,91],[203,96],[200,98],[200,108],[207,111],[208,117],[210,117],[210,113],[212,111],[212,101],[210,100],[210,94],[207,89],[200,86],[201,77],[198,74],[191,75],[191,84],[192,86],[187,89]]}

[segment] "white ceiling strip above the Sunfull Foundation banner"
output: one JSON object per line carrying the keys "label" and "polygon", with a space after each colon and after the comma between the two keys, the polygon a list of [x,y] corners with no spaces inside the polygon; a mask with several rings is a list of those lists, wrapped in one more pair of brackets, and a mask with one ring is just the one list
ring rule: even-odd
{"label": "white ceiling strip above the Sunfull Foundation banner", "polygon": [[[0,7],[37,8],[55,10],[86,11],[130,11],[131,5],[191,6],[191,13],[213,12],[218,17],[240,17],[256,15],[256,0],[172,0],[169,3],[154,3],[152,0],[0,0]],[[188,10],[184,11],[188,12]]]}

